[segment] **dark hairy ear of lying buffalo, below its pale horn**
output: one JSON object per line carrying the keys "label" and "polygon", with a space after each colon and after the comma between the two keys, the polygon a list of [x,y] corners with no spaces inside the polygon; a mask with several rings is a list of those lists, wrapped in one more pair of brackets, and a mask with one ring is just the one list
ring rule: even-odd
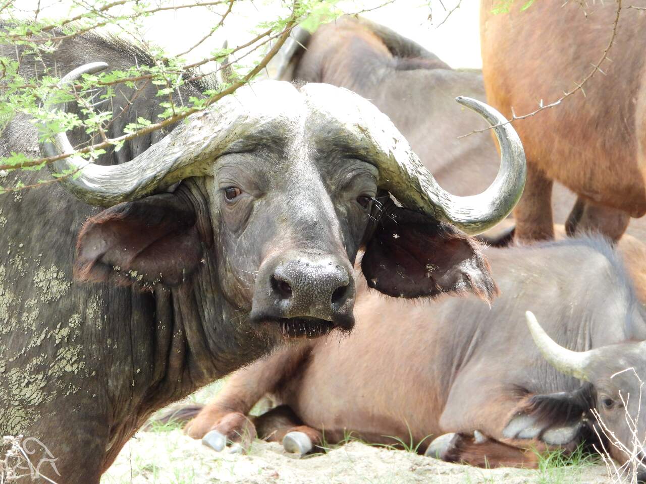
{"label": "dark hairy ear of lying buffalo, below its pale horn", "polygon": [[572,392],[533,395],[525,399],[503,429],[508,439],[539,439],[548,445],[576,445],[590,429],[585,416],[593,405],[589,383]]}

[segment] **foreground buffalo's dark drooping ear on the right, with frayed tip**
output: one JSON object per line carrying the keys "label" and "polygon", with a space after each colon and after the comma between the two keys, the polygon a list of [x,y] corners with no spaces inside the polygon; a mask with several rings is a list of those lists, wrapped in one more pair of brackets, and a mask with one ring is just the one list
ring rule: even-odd
{"label": "foreground buffalo's dark drooping ear on the right, with frayed tip", "polygon": [[491,302],[498,288],[481,244],[446,223],[382,199],[361,261],[368,286],[393,297],[472,292]]}

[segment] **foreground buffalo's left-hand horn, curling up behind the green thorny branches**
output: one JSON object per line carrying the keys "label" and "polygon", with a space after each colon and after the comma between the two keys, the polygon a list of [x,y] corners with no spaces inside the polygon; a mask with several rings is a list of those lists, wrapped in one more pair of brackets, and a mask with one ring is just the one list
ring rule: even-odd
{"label": "foreground buffalo's left-hand horn, curling up behind the green thorny branches", "polygon": [[[82,74],[97,72],[106,66],[105,63],[83,65],[63,77],[59,86],[69,85]],[[81,166],[78,177],[65,177],[60,183],[81,201],[101,207],[140,199],[187,177],[212,174],[213,160],[232,141],[280,116],[276,106],[281,96],[282,100],[287,97],[286,102],[289,102],[289,94],[295,96],[291,92],[296,93],[285,84],[286,87],[271,86],[275,96],[267,94],[269,101],[265,103],[256,100],[255,96],[253,99],[245,99],[244,95],[238,99],[222,99],[217,106],[189,116],[185,123],[179,123],[170,134],[128,163],[103,166],[80,156],[70,156],[51,163],[50,170],[61,173]],[[47,110],[61,107],[48,104],[47,99],[44,105]],[[65,133],[56,134],[39,146],[45,157],[74,152]]]}

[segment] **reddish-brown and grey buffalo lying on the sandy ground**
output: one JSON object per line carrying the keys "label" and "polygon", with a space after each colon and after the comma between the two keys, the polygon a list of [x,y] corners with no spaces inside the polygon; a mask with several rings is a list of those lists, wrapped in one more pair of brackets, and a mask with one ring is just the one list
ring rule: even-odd
{"label": "reddish-brown and grey buffalo lying on the sandy ground", "polygon": [[[412,304],[363,286],[353,334],[276,352],[176,416],[201,410],[187,432],[216,448],[256,431],[300,453],[348,433],[387,444],[441,436],[426,454],[482,467],[536,467],[532,449],[594,441],[593,411],[616,441],[640,445],[646,314],[618,254],[585,237],[486,256],[501,288],[491,308],[474,297]],[[542,327],[532,316],[523,325],[526,310]],[[247,418],[264,394],[279,406]]]}

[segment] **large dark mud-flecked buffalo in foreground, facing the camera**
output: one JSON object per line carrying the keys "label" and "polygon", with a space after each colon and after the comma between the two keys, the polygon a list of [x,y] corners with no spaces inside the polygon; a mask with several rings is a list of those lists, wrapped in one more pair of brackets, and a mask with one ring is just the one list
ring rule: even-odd
{"label": "large dark mud-flecked buffalo in foreground, facing the camera", "polygon": [[[91,35],[65,41],[45,63],[71,71],[67,84],[105,68],[87,64],[95,59],[114,69],[152,63],[136,46]],[[30,78],[40,64],[26,55],[22,65]],[[154,87],[119,89],[109,137],[161,110]],[[187,83],[177,96],[203,89]],[[501,119],[461,103],[489,123]],[[39,439],[29,450],[35,465],[47,457],[44,475],[98,483],[154,410],[285,338],[350,330],[360,248],[380,292],[490,300],[488,266],[464,232],[490,227],[521,194],[522,147],[511,128],[498,132],[499,177],[464,199],[442,190],[356,94],[267,81],[166,136],[133,139],[48,191],[0,197],[1,434]],[[85,141],[61,134],[42,154]],[[17,116],[1,143],[3,155],[37,154],[36,127]],[[60,159],[53,169],[79,163]],[[97,284],[73,283],[72,268],[77,281]]]}

